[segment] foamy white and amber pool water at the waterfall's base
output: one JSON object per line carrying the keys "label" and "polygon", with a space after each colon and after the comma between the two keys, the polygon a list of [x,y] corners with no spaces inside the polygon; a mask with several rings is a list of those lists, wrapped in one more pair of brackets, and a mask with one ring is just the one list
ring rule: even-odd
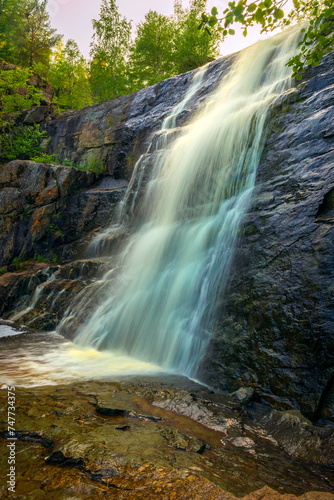
{"label": "foamy white and amber pool water at the waterfall's base", "polygon": [[129,356],[77,346],[54,332],[24,333],[9,325],[0,325],[0,347],[0,388],[1,384],[34,387],[122,380],[161,372],[159,367]]}

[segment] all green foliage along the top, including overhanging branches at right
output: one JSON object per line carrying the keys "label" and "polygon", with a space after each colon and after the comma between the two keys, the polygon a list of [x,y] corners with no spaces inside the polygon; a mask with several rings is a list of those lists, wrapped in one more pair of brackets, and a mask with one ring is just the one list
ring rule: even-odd
{"label": "all green foliage along the top, including overhanging branches at right", "polygon": [[16,66],[2,72],[0,113],[10,112],[10,103],[17,112],[35,102],[29,86],[25,96],[15,92],[15,81],[23,75],[27,81],[37,74],[49,82],[59,110],[137,91],[216,58],[237,24],[247,36],[255,24],[267,32],[307,20],[300,53],[289,62],[297,78],[333,48],[332,0],[293,0],[289,13],[283,10],[287,0],[233,0],[222,13],[214,7],[209,14],[206,3],[190,0],[184,7],[175,0],[171,16],[151,10],[132,36],[131,22],[120,14],[116,0],[101,0],[87,61],[75,40],[64,41],[52,27],[47,0],[0,0],[0,62]]}

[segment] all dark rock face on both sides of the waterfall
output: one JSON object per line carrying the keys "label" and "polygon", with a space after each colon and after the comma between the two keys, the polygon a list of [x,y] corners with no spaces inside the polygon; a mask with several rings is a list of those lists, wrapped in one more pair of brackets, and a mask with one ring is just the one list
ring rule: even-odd
{"label": "all dark rock face on both sides of the waterfall", "polygon": [[[180,125],[214,90],[232,59],[210,65],[199,94],[179,115]],[[247,402],[298,409],[313,420],[334,418],[332,66],[333,57],[327,56],[272,109],[254,201],[199,370],[201,380],[245,394]],[[4,167],[2,263],[43,254],[46,247],[62,259],[77,258],[87,234],[111,220],[124,194],[122,179],[129,179],[152,131],[182,101],[191,79],[192,73],[180,75],[47,122],[48,153],[77,164],[103,163],[114,179],[99,181],[96,174],[71,167],[29,162]],[[57,279],[69,293],[91,280],[75,272],[62,275],[62,269]],[[10,280],[4,281],[7,293]],[[45,286],[59,293],[58,285]],[[30,303],[32,297],[33,292]],[[38,307],[39,318],[48,319],[34,323],[29,310],[30,324],[53,328],[58,316],[43,316],[50,312],[47,301]]]}

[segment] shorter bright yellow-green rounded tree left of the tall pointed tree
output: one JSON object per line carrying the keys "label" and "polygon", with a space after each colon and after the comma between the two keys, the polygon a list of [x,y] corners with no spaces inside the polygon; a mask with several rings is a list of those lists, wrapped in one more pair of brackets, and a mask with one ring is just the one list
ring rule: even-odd
{"label": "shorter bright yellow-green rounded tree left of the tall pointed tree", "polygon": [[49,80],[60,108],[80,109],[93,103],[87,64],[74,40],[54,52]]}

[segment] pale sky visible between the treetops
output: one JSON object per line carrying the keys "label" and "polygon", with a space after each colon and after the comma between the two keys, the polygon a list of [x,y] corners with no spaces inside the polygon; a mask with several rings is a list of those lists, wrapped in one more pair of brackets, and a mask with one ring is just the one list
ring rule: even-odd
{"label": "pale sky visible between the treetops", "polygon": [[[226,8],[228,0],[208,0],[208,8],[216,6],[219,12]],[[133,21],[133,26],[144,19],[149,10],[156,10],[161,14],[170,15],[173,13],[173,0],[117,0],[119,12],[129,21]],[[184,6],[189,1],[183,0]],[[48,10],[51,24],[58,33],[64,35],[64,39],[73,38],[79,45],[84,57],[89,58],[89,44],[91,42],[93,29],[92,19],[99,18],[101,0],[48,0]],[[257,42],[260,38],[259,28],[252,28],[252,32],[243,37],[241,34],[230,36],[221,48],[222,55],[230,54],[241,50],[248,45]]]}

